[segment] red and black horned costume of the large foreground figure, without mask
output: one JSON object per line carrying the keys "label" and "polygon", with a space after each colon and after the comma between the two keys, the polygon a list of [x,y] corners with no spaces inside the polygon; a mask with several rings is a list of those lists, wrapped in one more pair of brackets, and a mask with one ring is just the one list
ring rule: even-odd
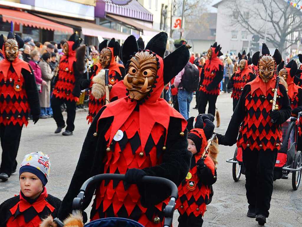
{"label": "red and black horned costume of the large foreground figure, without mask", "polygon": [[[60,219],[71,212],[72,199],[86,179],[100,173],[120,173],[125,174],[124,184],[111,180],[96,187],[91,219],[117,216],[136,220],[144,226],[162,226],[162,210],[169,190],[145,185],[140,179],[144,175],[161,176],[178,185],[188,173],[191,158],[187,150],[185,119],[160,98],[164,84],[188,62],[189,52],[182,46],[163,59],[167,38],[165,32],[159,33],[149,41],[146,50],[138,49],[134,36],[124,42],[124,62],[131,62],[133,52],[137,52],[133,56],[140,52],[156,56],[156,82],[143,100],[124,97],[98,112],[59,210]],[[85,207],[94,189],[86,196],[89,199]],[[155,224],[153,220],[157,217],[161,222]]]}

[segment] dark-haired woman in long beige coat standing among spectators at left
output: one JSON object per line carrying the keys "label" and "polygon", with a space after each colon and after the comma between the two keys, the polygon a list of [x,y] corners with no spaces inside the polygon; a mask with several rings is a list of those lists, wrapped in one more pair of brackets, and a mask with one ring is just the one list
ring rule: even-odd
{"label": "dark-haired woman in long beige coat standing among spectators at left", "polygon": [[41,106],[41,116],[40,118],[52,117],[52,110],[50,107],[50,84],[53,75],[51,74],[51,68],[49,62],[51,60],[50,53],[44,53],[42,55],[39,66],[42,71],[42,79],[47,82],[47,85],[42,86],[42,92],[39,94],[40,106]]}

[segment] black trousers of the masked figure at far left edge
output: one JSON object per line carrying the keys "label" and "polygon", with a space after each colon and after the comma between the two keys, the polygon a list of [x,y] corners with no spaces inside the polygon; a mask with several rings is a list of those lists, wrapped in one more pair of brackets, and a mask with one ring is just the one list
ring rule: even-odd
{"label": "black trousers of the masked figure at far left edge", "polygon": [[11,176],[11,173],[17,168],[17,153],[19,149],[21,132],[23,125],[0,124],[0,139],[2,147],[2,162],[0,166],[0,173],[6,173]]}

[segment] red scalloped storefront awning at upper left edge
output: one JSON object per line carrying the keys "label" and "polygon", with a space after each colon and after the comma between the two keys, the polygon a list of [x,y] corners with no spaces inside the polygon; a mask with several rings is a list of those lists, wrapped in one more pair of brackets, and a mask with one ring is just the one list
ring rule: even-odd
{"label": "red scalloped storefront awning at upper left edge", "polygon": [[37,17],[27,12],[0,8],[0,15],[2,15],[2,21],[4,22],[12,21],[14,23],[22,24],[24,26],[32,26],[35,28],[42,28],[45,30],[52,31],[62,31],[70,34],[73,33],[72,28],[54,23],[52,21],[48,21],[46,19]]}

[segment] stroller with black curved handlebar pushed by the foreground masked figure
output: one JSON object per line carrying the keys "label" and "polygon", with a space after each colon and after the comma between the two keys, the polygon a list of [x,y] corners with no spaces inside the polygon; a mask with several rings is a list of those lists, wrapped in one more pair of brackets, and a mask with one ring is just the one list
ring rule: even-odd
{"label": "stroller with black curved handlebar pushed by the foreground masked figure", "polygon": [[[93,176],[86,180],[76,198],[73,199],[72,202],[72,213],[75,213],[77,210],[82,210],[82,205],[85,199],[85,192],[89,188],[89,186],[92,186],[95,183],[100,183],[102,180],[124,180],[125,175],[124,174],[99,174],[96,176]],[[173,213],[175,209],[175,201],[178,198],[178,189],[177,186],[170,180],[162,178],[162,177],[156,177],[156,176],[143,176],[142,183],[154,183],[154,184],[162,184],[166,185],[171,189],[171,196],[170,201],[167,206],[165,206],[164,209],[164,227],[170,227],[172,225],[173,220]],[[64,224],[59,219],[54,219],[54,221],[57,223],[59,227],[63,227]],[[84,227],[144,227],[140,223],[133,221],[131,219],[125,219],[125,218],[103,218],[94,220],[92,222],[88,222],[84,225]]]}

